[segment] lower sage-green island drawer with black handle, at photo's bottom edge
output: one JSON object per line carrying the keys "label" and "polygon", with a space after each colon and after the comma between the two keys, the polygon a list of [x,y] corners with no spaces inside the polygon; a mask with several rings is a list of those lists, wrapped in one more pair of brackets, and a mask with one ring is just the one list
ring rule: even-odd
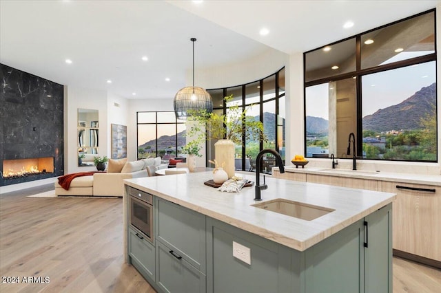
{"label": "lower sage-green island drawer with black handle, at photo's bottom edge", "polygon": [[158,248],[156,282],[164,292],[203,293],[206,291],[205,274],[161,241],[156,241],[156,246]]}

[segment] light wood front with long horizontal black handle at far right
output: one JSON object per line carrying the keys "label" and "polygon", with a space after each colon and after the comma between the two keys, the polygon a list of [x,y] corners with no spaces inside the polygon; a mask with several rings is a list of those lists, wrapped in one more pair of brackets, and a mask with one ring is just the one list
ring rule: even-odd
{"label": "light wood front with long horizontal black handle at far right", "polygon": [[393,202],[393,248],[441,261],[441,187],[382,182],[382,191],[397,194]]}

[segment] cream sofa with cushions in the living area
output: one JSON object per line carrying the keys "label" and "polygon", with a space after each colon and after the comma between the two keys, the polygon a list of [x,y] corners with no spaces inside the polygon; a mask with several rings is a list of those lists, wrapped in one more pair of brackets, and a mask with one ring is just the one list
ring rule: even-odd
{"label": "cream sofa with cushions in the living area", "polygon": [[[122,164],[124,163],[124,164]],[[147,177],[147,166],[156,169],[167,168],[161,164],[161,158],[149,158],[133,162],[110,160],[107,172],[94,173],[93,176],[76,177],[66,191],[58,182],[55,182],[55,195],[87,195],[87,196],[118,196],[124,195],[125,179]],[[121,166],[121,168],[119,168]]]}

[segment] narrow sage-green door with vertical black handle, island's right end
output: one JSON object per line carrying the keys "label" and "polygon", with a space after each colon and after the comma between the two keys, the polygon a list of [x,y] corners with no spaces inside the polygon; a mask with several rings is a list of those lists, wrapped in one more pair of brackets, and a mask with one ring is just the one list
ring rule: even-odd
{"label": "narrow sage-green door with vertical black handle, island's right end", "polygon": [[365,217],[365,293],[392,292],[392,205]]}

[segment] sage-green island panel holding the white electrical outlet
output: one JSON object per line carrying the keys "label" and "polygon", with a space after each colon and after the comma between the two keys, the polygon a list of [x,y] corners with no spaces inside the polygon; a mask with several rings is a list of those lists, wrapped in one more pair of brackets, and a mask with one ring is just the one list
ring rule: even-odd
{"label": "sage-green island panel holding the white electrical outlet", "polygon": [[[207,292],[291,292],[289,248],[214,219],[207,227]],[[234,242],[250,263],[234,257]]]}

